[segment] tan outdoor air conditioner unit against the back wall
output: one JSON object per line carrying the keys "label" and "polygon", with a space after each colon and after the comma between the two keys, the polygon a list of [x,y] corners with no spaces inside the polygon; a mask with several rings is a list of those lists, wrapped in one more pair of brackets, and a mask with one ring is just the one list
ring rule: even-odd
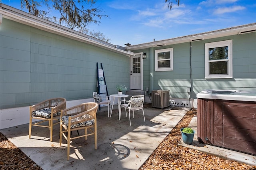
{"label": "tan outdoor air conditioner unit against the back wall", "polygon": [[165,108],[170,106],[169,90],[152,90],[152,107]]}

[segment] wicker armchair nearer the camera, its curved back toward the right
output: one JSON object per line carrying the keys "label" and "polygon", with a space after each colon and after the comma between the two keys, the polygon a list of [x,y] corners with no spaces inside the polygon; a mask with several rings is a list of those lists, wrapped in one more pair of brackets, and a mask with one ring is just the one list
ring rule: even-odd
{"label": "wicker armchair nearer the camera, its curved back toward the right", "polygon": [[[76,138],[85,137],[94,134],[95,150],[97,149],[97,121],[96,113],[98,103],[88,102],[61,110],[60,113],[60,146],[62,144],[62,135],[67,140],[67,160],[69,160],[70,141]],[[94,128],[94,129],[93,129]],[[81,136],[70,137],[73,130],[84,129],[85,134]],[[87,133],[87,129],[90,133]],[[67,134],[65,134],[67,132]]]}

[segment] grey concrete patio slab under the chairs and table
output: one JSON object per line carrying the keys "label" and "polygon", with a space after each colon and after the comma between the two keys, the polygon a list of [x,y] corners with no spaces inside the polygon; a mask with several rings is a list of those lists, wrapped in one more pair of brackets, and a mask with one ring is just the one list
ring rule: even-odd
{"label": "grey concrete patio slab under the chairs and table", "polygon": [[[94,150],[93,136],[87,140],[75,139],[70,146],[70,160],[66,160],[67,144],[59,144],[58,125],[54,127],[52,142],[50,131],[40,127],[32,128],[29,139],[28,124],[0,132],[44,170],[138,170],[188,110],[187,107],[154,109],[145,105],[146,123],[142,111],[135,111],[129,126],[129,116],[125,116],[124,110],[119,121],[116,108],[108,118],[107,107],[102,107],[97,112],[97,150]],[[76,131],[72,135],[77,135]]]}

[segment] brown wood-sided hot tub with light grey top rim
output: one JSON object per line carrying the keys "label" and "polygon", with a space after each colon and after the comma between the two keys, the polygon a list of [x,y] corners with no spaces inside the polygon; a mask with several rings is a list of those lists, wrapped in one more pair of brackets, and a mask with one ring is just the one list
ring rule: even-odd
{"label": "brown wood-sided hot tub with light grey top rim", "polygon": [[198,140],[256,155],[256,92],[204,90],[197,94]]}

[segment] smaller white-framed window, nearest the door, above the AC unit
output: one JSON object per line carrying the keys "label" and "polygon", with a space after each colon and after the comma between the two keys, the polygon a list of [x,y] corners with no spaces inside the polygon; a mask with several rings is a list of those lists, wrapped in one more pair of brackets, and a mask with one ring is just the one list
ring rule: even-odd
{"label": "smaller white-framed window, nearest the door, above the AC unit", "polygon": [[155,71],[173,70],[173,48],[155,50]]}

